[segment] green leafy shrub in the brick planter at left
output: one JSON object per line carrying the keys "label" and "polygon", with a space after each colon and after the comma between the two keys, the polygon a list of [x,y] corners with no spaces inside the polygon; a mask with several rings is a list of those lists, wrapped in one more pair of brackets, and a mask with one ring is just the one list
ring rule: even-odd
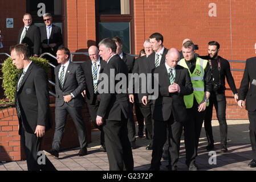
{"label": "green leafy shrub in the brick planter at left", "polygon": [[[30,57],[30,59],[39,67],[42,67],[47,75],[50,73],[50,65],[48,60],[38,57]],[[3,73],[3,84],[2,87],[5,90],[6,98],[9,98],[9,101],[14,102],[15,88],[18,82],[19,73],[22,72],[22,69],[17,69],[13,64],[11,57],[7,58],[2,65]]]}

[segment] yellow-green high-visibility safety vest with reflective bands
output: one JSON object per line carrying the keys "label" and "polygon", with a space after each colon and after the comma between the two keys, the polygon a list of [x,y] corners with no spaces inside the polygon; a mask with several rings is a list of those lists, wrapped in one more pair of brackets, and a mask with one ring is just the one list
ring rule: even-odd
{"label": "yellow-green high-visibility safety vest with reflective bands", "polygon": [[[196,68],[194,68],[194,72],[191,73],[189,71],[189,75],[191,78],[191,82],[193,84],[194,91],[192,94],[188,96],[184,96],[184,102],[187,109],[193,106],[194,97],[196,97],[198,104],[200,104],[204,99],[204,95],[205,95],[204,75],[205,75],[205,67],[207,63],[208,63],[208,60],[204,60],[204,59],[201,59],[200,57],[197,57]],[[186,65],[185,59],[181,59],[178,64],[180,64],[184,68],[188,68],[188,65]],[[209,106],[209,102],[207,102],[207,106]]]}

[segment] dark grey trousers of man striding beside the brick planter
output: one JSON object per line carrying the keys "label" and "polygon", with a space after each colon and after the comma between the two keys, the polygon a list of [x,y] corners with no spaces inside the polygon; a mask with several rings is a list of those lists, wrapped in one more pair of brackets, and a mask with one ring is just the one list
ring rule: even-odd
{"label": "dark grey trousers of man striding beside the brick planter", "polygon": [[86,125],[82,118],[82,107],[71,107],[65,102],[63,106],[55,107],[55,131],[52,149],[56,151],[59,151],[60,148],[68,114],[71,115],[71,118],[75,123],[80,148],[87,147]]}

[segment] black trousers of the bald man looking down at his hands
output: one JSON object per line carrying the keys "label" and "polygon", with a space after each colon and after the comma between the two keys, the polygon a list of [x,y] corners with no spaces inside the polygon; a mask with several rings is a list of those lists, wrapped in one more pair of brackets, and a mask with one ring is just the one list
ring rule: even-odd
{"label": "black trousers of the bald man looking down at his hands", "polygon": [[[172,115],[172,114],[171,114]],[[162,147],[168,136],[169,167],[177,167],[180,154],[180,138],[183,123],[174,121],[173,116],[168,121],[154,121],[154,139],[151,169],[159,170],[162,158]]]}

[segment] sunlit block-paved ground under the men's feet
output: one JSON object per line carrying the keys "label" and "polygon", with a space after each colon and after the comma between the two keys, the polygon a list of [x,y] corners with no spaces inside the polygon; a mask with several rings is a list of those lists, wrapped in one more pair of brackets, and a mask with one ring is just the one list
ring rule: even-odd
{"label": "sunlit block-paved ground under the men's feet", "polygon": [[[220,132],[218,121],[213,121],[213,135],[215,140],[215,151],[217,153],[216,164],[210,165],[208,151],[205,150],[207,139],[205,130],[202,128],[200,144],[198,147],[197,164],[202,171],[251,171],[256,168],[250,168],[247,164],[251,161],[251,146],[249,138],[249,121],[229,120],[228,125],[228,142],[227,147],[229,152],[221,153],[220,150]],[[137,128],[136,128],[137,130]],[[145,150],[148,140],[137,138],[136,144],[139,148],[133,151],[134,169],[135,171],[147,171],[151,163],[152,151]],[[92,142],[88,144],[88,155],[77,156],[79,148],[72,150],[61,151],[59,159],[54,159],[51,156],[49,159],[54,164],[56,169],[60,171],[108,171],[108,158],[106,152],[99,151],[100,133],[99,131],[92,132]],[[185,148],[184,137],[182,134],[180,159],[178,162],[178,170],[186,171],[185,165]],[[214,162],[214,160],[211,160]],[[168,162],[162,160],[161,170],[165,171]],[[26,161],[0,163],[0,171],[23,171],[27,170]]]}

